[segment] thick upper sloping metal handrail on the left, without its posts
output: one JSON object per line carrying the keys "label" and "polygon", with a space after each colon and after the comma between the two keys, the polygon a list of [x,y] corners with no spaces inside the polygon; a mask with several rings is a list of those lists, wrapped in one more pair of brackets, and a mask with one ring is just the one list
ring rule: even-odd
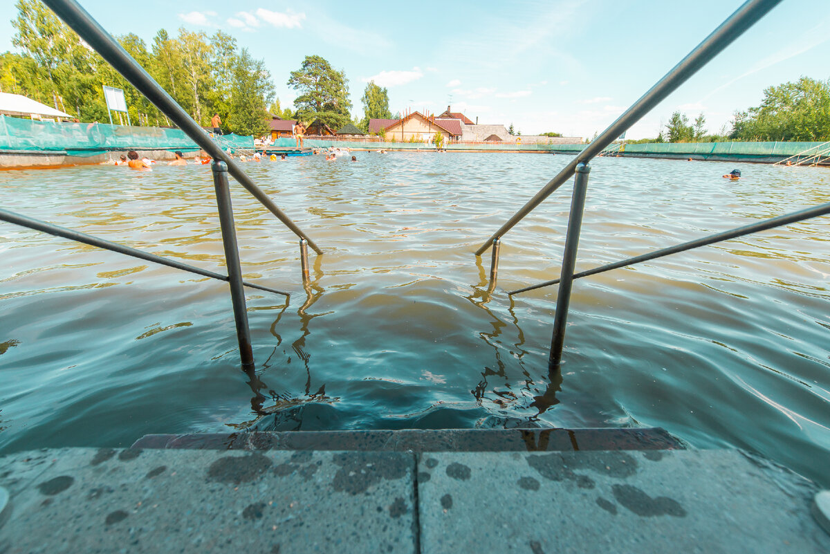
{"label": "thick upper sloping metal handrail on the left, without its posts", "polygon": [[227,163],[228,172],[232,177],[245,187],[248,192],[253,195],[264,207],[268,208],[277,219],[283,222],[296,236],[300,239],[308,241],[308,245],[317,252],[322,254],[323,250],[310,239],[305,232],[296,226],[294,221],[291,221],[289,216],[286,216],[283,211],[276,204],[271,201],[271,198],[262,191],[256,183],[247,176],[242,168],[233,161],[233,158],[228,156],[217,143],[214,143],[210,137],[204,132],[204,129],[193,121],[193,118],[188,115],[184,109],[167,92],[159,85],[153,77],[139,65],[137,61],[130,56],[127,51],[106,32],[104,27],[101,27],[98,22],[93,19],[86,10],[81,7],[81,4],[75,0],[44,0],[44,3],[51,8],[58,17],[66,22],[66,25],[71,27],[81,36],[87,44],[89,44],[95,51],[97,51],[106,61],[110,63],[124,78],[129,81],[136,89],[143,94],[147,100],[153,103],[159,110],[161,110],[173,123],[177,124],[188,137],[193,139],[205,152],[212,158],[221,160]]}

